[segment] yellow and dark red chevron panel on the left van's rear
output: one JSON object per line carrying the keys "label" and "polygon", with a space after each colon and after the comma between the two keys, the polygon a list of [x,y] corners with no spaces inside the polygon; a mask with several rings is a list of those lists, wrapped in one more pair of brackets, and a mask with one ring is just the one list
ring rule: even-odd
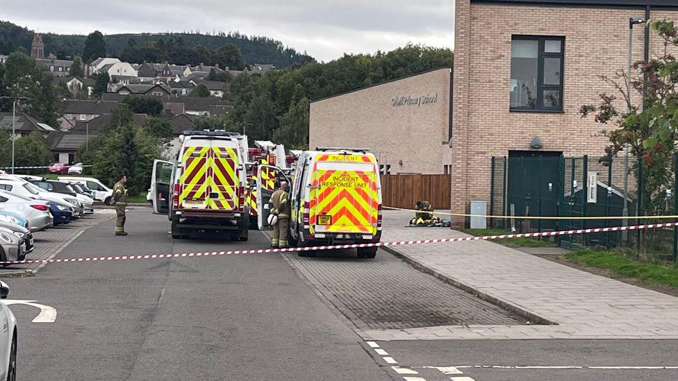
{"label": "yellow and dark red chevron panel on the left van's rear", "polygon": [[[183,208],[233,210],[238,208],[238,155],[226,147],[188,146],[182,154]],[[188,201],[188,202],[184,202]]]}

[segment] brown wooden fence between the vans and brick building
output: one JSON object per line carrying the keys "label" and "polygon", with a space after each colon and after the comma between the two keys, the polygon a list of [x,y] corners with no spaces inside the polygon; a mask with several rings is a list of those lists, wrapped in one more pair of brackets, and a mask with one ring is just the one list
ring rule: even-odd
{"label": "brown wooden fence between the vans and brick building", "polygon": [[417,201],[429,201],[449,210],[451,185],[450,175],[381,175],[383,205],[413,209]]}

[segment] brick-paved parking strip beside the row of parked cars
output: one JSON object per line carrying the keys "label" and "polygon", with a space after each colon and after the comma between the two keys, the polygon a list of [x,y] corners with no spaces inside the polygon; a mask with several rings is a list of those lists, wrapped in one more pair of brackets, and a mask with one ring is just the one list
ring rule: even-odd
{"label": "brick-paved parking strip beside the row of parked cars", "polygon": [[[26,255],[26,260],[51,259],[88,228],[113,218],[115,218],[115,210],[97,209],[94,214],[86,214],[81,219],[71,223],[34,232],[35,248],[33,248],[33,252]],[[111,231],[113,231],[113,228],[111,228]],[[40,263],[13,264],[0,268],[0,277],[28,276],[36,273],[41,267],[42,264]]]}

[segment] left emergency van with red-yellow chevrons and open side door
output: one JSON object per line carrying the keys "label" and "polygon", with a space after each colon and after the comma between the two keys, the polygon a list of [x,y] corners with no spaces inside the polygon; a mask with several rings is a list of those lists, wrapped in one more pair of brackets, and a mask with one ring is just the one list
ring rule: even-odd
{"label": "left emergency van with red-yellow chevrons and open side door", "polygon": [[167,213],[172,238],[193,230],[247,241],[247,137],[185,131],[173,162],[155,160],[151,174],[154,212]]}

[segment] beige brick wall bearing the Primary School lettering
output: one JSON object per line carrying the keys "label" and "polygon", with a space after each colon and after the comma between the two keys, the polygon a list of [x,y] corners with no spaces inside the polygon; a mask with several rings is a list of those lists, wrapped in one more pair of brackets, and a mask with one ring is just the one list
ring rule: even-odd
{"label": "beige brick wall bearing the Primary School lettering", "polygon": [[[438,69],[311,103],[309,146],[367,148],[391,173],[443,173],[450,69]],[[435,96],[435,103],[397,105],[399,96]],[[399,161],[402,160],[402,165]]]}

